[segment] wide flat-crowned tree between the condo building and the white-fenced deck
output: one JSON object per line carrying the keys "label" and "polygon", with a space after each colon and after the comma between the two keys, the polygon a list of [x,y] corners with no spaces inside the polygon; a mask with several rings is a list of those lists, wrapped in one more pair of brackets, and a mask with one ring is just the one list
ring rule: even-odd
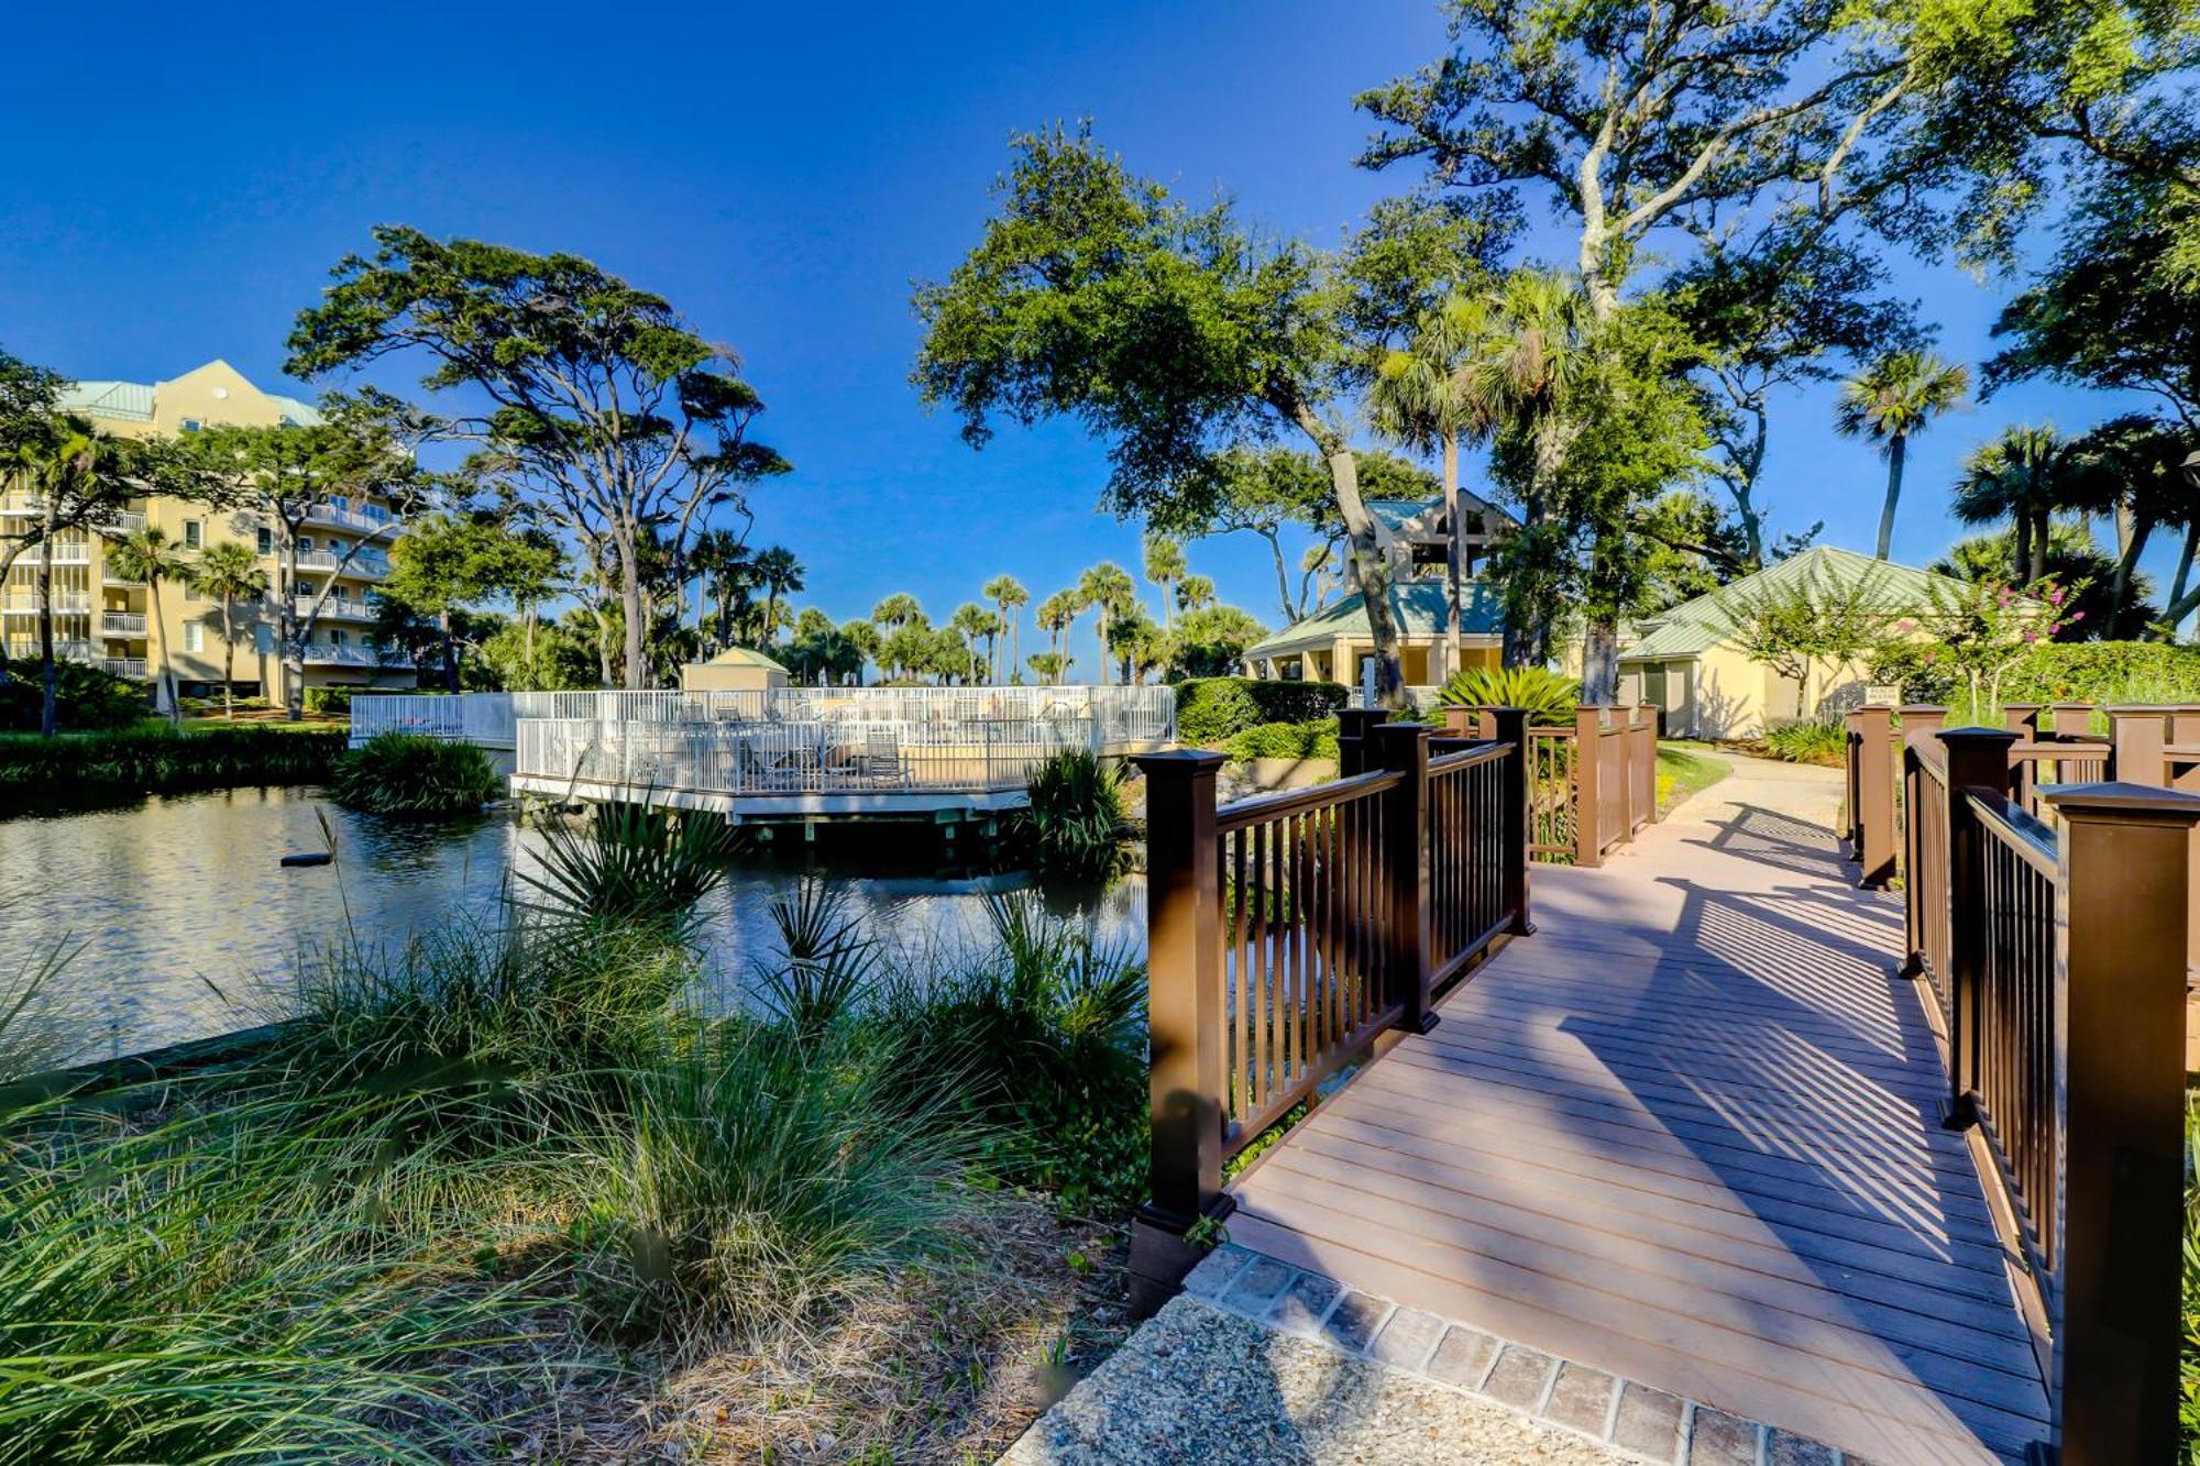
{"label": "wide flat-crowned tree between the condo building and the white-fenced deck", "polygon": [[788,462],[750,436],[763,401],[730,348],[658,295],[565,253],[374,231],[319,306],[299,315],[288,370],[323,376],[383,357],[433,365],[431,392],[484,409],[442,423],[499,456],[543,515],[614,581],[625,682],[649,685],[645,557],[678,577],[693,533]]}

